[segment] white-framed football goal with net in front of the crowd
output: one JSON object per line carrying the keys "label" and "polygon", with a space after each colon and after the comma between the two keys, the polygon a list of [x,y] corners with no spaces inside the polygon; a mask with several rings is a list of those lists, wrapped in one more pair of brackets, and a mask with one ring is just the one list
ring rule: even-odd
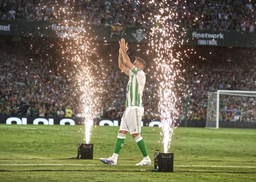
{"label": "white-framed football goal with net in front of the crowd", "polygon": [[208,92],[207,128],[256,128],[256,92]]}

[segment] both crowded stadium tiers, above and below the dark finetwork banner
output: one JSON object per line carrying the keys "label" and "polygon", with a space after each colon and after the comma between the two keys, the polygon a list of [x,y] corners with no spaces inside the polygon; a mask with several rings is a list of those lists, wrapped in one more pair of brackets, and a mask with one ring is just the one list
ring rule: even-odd
{"label": "both crowded stadium tiers, above and below the dark finetwork banner", "polygon": [[[125,0],[81,0],[69,5],[65,4],[65,1],[58,1],[58,5],[52,2],[52,0],[0,0],[0,19],[50,21],[76,18],[105,26],[121,24],[126,27],[148,27],[148,24],[151,25],[148,17],[154,15],[157,7],[157,5],[145,5],[143,1],[136,4],[135,1]],[[250,0],[181,0],[178,4],[170,3],[173,11],[177,13],[177,19],[171,21],[185,29],[253,32],[255,6],[251,2]],[[74,11],[64,17],[56,9],[65,6],[74,7]],[[49,57],[49,55],[54,56],[55,52],[51,52],[45,41],[37,39],[35,43],[33,40],[26,40],[16,45],[4,39],[0,41],[4,45],[0,51],[0,115],[56,116],[57,111],[65,111],[67,106],[72,107],[74,116],[79,114],[79,99],[74,96],[74,80],[67,77],[67,72],[52,67],[53,63],[56,65],[63,63],[60,57]],[[143,46],[145,45],[140,45],[140,52],[146,52]],[[34,47],[41,52],[47,52],[48,56],[35,54]],[[14,49],[15,52],[12,51]],[[106,50],[111,53],[110,55],[117,55],[114,44],[109,43]],[[201,52],[206,60],[192,56],[189,61],[183,62],[181,69],[186,70],[186,74],[181,76],[185,81],[177,80],[184,85],[184,93],[192,94],[188,105],[189,120],[205,120],[207,91],[256,91],[256,67],[253,62],[255,53],[246,54],[246,49],[242,48],[200,47],[200,50],[197,52]],[[136,52],[135,46],[129,46],[130,56],[136,55]],[[206,55],[209,52],[210,55]],[[99,56],[106,62],[110,59],[117,60],[117,56],[113,58],[103,53]],[[146,60],[148,67],[154,66],[148,57]],[[241,64],[241,60],[244,60],[245,64]],[[108,77],[104,99],[100,103],[101,117],[121,118],[125,109],[125,88],[128,78],[120,72],[117,64],[105,66]],[[150,70],[145,72],[150,74]],[[143,96],[146,107],[144,118],[159,119],[157,80],[149,76],[147,80]],[[113,90],[113,88],[118,89]],[[178,100],[180,119],[184,119],[185,97],[180,96],[181,99]]]}

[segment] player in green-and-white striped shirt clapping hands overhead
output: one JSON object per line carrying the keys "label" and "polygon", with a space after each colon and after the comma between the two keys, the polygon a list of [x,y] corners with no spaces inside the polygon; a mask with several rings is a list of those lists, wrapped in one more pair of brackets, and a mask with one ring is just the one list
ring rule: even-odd
{"label": "player in green-and-white striped shirt clapping hands overhead", "polygon": [[110,158],[100,158],[99,160],[106,164],[116,165],[118,155],[124,146],[126,134],[127,132],[130,132],[143,154],[143,160],[136,165],[151,165],[151,160],[148,157],[145,142],[140,135],[141,119],[144,112],[142,93],[146,82],[146,76],[143,69],[146,66],[146,62],[142,58],[136,57],[135,62],[132,64],[126,53],[128,50],[127,43],[125,44],[125,40],[122,38],[121,41],[119,41],[119,44],[118,65],[119,68],[129,76],[126,108],[121,119],[113,155]]}

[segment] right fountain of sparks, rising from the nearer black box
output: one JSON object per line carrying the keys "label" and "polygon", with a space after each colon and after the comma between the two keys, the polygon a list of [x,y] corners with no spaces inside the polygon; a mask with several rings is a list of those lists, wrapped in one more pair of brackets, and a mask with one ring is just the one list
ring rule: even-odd
{"label": "right fountain of sparks, rising from the nearer black box", "polygon": [[[184,29],[180,29],[175,23],[177,13],[175,10],[176,1],[163,0],[150,1],[155,5],[155,16],[151,22],[155,25],[150,32],[149,46],[153,48],[157,58],[154,61],[157,64],[157,74],[155,75],[159,82],[158,96],[159,106],[158,110],[161,114],[163,147],[166,153],[170,148],[170,142],[174,129],[174,125],[178,118],[177,110],[177,86],[174,82],[180,78],[180,64],[179,57],[181,53],[177,51],[180,48],[183,40],[178,39],[179,35],[183,36]],[[181,31],[181,32],[180,32]],[[175,46],[175,47],[174,47]],[[176,49],[175,49],[176,48]],[[179,87],[179,84],[178,84]]]}

